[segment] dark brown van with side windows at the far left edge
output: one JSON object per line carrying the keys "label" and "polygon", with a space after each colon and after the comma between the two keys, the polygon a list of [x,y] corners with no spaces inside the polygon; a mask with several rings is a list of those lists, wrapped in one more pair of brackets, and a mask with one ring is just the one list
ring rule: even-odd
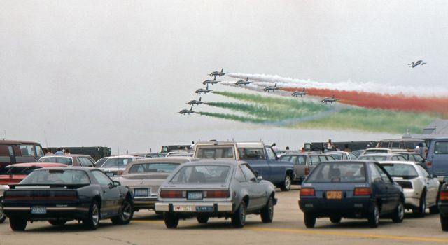
{"label": "dark brown van with side windows at the far left edge", "polygon": [[42,156],[41,144],[34,141],[0,140],[0,168],[14,163],[37,162]]}

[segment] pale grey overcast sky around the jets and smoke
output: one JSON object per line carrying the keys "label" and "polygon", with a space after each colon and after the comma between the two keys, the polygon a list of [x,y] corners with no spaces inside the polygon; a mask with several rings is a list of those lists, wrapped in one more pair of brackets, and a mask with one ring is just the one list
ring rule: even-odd
{"label": "pale grey overcast sky around the jets and smoke", "polygon": [[[221,68],[445,90],[446,13],[447,1],[0,1],[0,138],[119,154],[209,139],[301,148],[400,137],[177,112]],[[407,66],[418,59],[427,64]]]}

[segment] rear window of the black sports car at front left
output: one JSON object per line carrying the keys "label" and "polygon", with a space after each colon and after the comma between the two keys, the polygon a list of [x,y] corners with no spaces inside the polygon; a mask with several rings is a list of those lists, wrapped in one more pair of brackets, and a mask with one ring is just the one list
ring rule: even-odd
{"label": "rear window of the black sports car at front left", "polygon": [[82,170],[45,169],[31,172],[20,184],[79,185],[90,183],[89,176]]}

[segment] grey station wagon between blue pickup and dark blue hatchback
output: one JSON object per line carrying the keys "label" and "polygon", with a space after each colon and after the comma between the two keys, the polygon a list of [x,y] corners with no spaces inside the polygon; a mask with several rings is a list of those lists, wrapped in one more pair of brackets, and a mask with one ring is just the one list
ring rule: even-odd
{"label": "grey station wagon between blue pickup and dark blue hatchback", "polygon": [[293,163],[295,169],[295,179],[293,179],[293,183],[301,184],[309,172],[311,172],[311,169],[316,167],[319,162],[328,162],[335,160],[335,158],[328,154],[305,152],[281,155],[279,160]]}

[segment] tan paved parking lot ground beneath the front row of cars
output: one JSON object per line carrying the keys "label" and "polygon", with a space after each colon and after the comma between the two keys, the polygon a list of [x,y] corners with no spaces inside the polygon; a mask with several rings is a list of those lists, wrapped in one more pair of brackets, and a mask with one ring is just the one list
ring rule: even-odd
{"label": "tan paved parking lot ground beneath the front row of cars", "polygon": [[85,231],[77,222],[62,227],[47,222],[29,224],[25,232],[10,230],[8,220],[0,224],[0,244],[447,244],[448,234],[440,229],[438,215],[416,218],[407,213],[401,224],[382,219],[379,228],[369,228],[365,220],[343,219],[334,225],[328,218],[317,220],[307,229],[297,206],[299,186],[276,193],[279,202],[273,223],[261,223],[260,216],[247,217],[242,229],[230,220],[211,218],[207,224],[196,219],[180,221],[175,230],[165,228],[161,215],[153,211],[134,214],[130,225],[101,221],[98,230]]}

